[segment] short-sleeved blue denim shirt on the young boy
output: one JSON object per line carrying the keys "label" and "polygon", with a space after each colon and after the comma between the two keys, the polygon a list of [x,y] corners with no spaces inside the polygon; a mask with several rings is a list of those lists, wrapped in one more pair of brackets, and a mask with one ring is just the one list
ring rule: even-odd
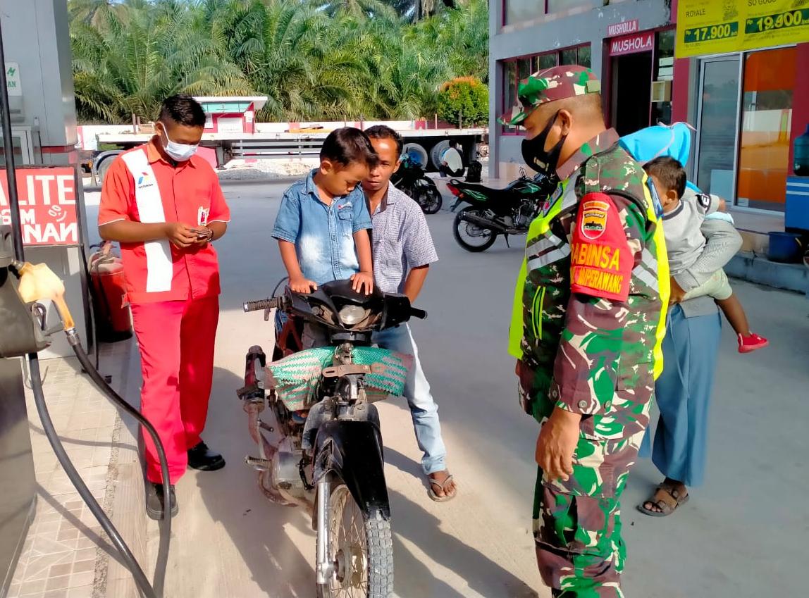
{"label": "short-sleeved blue denim shirt on the young boy", "polygon": [[354,233],[373,225],[360,185],[326,205],[318,195],[315,173],[284,193],[273,238],[293,243],[303,276],[324,284],[359,272]]}

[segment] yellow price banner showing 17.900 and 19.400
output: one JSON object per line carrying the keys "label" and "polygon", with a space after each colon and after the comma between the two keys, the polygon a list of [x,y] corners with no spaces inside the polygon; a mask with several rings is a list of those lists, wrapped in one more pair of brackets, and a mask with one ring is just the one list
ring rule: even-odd
{"label": "yellow price banner showing 17.900 and 19.400", "polygon": [[680,0],[678,58],[809,42],[809,0]]}

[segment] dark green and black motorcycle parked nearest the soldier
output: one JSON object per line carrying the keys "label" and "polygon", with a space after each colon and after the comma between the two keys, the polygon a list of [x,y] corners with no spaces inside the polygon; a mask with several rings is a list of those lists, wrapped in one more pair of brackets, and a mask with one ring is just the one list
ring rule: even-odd
{"label": "dark green and black motorcycle parked nearest the soldier", "polygon": [[556,183],[541,174],[530,179],[523,168],[519,174],[502,189],[450,179],[447,188],[457,198],[452,211],[464,202],[470,204],[455,216],[452,227],[455,241],[466,251],[486,251],[500,234],[506,244],[511,234],[527,234]]}

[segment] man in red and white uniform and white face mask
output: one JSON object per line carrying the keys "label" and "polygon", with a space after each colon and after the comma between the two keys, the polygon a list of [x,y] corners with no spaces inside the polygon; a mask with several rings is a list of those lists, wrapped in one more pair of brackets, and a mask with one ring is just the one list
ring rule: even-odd
{"label": "man in red and white uniform and white face mask", "polygon": [[[115,158],[104,177],[101,238],[121,243],[126,297],[141,352],[141,411],[166,449],[172,484],[187,466],[218,470],[200,434],[208,414],[219,318],[219,267],[211,242],[231,213],[214,169],[196,156],[205,112],[188,95],[163,101],[155,137]],[[146,512],[163,516],[160,465],[146,444]]]}

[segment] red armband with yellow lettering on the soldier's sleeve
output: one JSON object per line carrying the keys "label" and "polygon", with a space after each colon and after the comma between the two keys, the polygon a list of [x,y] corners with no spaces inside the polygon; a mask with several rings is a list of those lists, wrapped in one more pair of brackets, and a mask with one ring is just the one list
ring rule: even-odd
{"label": "red armband with yellow lettering on the soldier's sleeve", "polygon": [[621,214],[612,198],[606,193],[582,197],[571,239],[571,290],[626,301],[633,263]]}

